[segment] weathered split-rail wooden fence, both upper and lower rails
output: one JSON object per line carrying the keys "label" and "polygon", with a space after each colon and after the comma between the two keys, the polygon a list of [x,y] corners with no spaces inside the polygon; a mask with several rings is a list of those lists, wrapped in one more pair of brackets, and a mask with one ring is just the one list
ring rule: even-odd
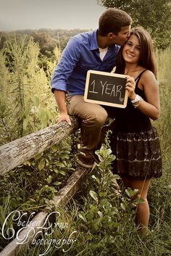
{"label": "weathered split-rail wooden fence, both upper and lower rails", "polygon": [[[70,119],[72,125],[62,122],[0,146],[0,175],[5,175],[9,170],[30,160],[32,157],[35,157],[36,154],[49,149],[52,145],[59,144],[62,139],[77,131],[79,128],[78,119],[76,117],[71,117]],[[18,239],[25,237],[25,235],[28,234],[30,227],[37,231],[38,227],[43,225],[43,222],[48,215],[47,210],[52,210],[52,208],[54,209],[54,207],[56,208],[60,205],[64,207],[64,205],[66,205],[73,197],[75,192],[78,191],[90,171],[91,169],[88,168],[76,168],[75,173],[72,173],[64,187],[57,193],[57,196],[50,201],[49,207],[38,212],[31,223],[20,232]],[[0,252],[0,256],[17,255],[23,247],[28,247],[33,241],[30,237],[27,244],[18,244],[18,239],[15,238],[10,242],[7,247]]]}

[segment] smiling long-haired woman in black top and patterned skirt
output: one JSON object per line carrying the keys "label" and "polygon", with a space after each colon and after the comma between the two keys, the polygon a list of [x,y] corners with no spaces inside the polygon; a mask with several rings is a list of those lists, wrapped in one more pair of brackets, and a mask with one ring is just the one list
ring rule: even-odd
{"label": "smiling long-haired woman in black top and patterned skirt", "polygon": [[159,138],[150,121],[160,114],[156,66],[151,36],[143,28],[133,29],[120,49],[115,70],[127,75],[128,105],[116,110],[113,152],[114,173],[122,177],[125,186],[138,189],[138,197],[144,200],[136,212],[142,232],[149,223],[151,178],[162,176]]}

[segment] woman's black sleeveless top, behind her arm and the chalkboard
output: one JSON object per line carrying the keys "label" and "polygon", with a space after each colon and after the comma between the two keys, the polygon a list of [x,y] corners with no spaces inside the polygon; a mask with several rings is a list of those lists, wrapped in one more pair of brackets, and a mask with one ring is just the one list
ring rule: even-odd
{"label": "woman's black sleeveless top, behind her arm and the chalkboard", "polygon": [[[146,70],[143,70],[145,72]],[[135,78],[135,94],[138,94],[146,101],[146,96],[143,93],[143,90],[138,88],[138,82],[141,78],[143,72]],[[138,108],[133,107],[133,104],[128,98],[127,107],[124,109],[116,108],[115,111],[115,125],[116,130],[126,133],[133,133],[139,131],[148,131],[151,129],[151,121],[149,117],[143,115],[143,113],[138,110]]]}

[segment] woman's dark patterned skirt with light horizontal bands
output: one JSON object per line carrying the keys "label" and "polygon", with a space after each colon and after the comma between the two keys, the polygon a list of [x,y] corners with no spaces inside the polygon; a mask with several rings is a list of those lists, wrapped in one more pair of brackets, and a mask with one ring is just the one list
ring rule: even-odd
{"label": "woman's dark patterned skirt with light horizontal bands", "polygon": [[162,157],[156,128],[139,133],[117,133],[112,140],[116,159],[113,173],[133,180],[162,176]]}

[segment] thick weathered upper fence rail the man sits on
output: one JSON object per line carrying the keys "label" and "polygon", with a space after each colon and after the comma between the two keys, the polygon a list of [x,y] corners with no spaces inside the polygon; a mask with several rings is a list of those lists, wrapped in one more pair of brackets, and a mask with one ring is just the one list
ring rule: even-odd
{"label": "thick weathered upper fence rail the man sits on", "polygon": [[72,125],[62,122],[41,131],[31,133],[0,146],[0,175],[4,175],[36,154],[59,144],[62,139],[78,130],[78,118],[70,117]]}

